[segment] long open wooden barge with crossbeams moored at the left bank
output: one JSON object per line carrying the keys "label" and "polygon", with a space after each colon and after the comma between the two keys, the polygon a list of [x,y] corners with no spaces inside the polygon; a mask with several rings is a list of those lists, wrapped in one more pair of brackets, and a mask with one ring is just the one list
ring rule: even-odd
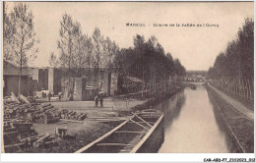
{"label": "long open wooden barge with crossbeams moored at the left bank", "polygon": [[163,138],[163,113],[147,109],[134,113],[119,126],[76,153],[157,152]]}

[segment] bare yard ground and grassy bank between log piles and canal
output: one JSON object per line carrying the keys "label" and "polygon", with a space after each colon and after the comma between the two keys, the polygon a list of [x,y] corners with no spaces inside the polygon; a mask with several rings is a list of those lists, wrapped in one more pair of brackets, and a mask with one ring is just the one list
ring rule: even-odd
{"label": "bare yard ground and grassy bank between log piles and canal", "polygon": [[103,136],[111,129],[118,126],[122,121],[101,123],[96,121],[98,117],[109,118],[125,118],[131,112],[148,109],[150,106],[157,105],[165,98],[178,92],[181,87],[173,88],[168,92],[159,92],[158,94],[145,99],[138,99],[136,96],[129,95],[129,97],[108,97],[104,100],[104,107],[95,107],[94,101],[63,101],[51,102],[51,104],[59,109],[68,109],[76,112],[85,112],[88,115],[83,122],[70,123],[58,122],[56,124],[34,124],[33,128],[39,135],[50,134],[54,135],[55,128],[67,128],[68,134],[75,136],[74,139],[61,139],[55,145],[47,148],[32,148],[26,152],[42,152],[42,153],[71,153],[79,148],[87,145],[96,138]]}

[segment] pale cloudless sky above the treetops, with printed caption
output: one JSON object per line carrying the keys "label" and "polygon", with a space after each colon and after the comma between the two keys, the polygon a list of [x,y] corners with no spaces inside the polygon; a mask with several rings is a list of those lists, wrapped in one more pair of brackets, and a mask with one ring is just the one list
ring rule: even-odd
{"label": "pale cloudless sky above the treetops, with printed caption", "polygon": [[[133,37],[155,35],[166,52],[178,58],[186,70],[208,70],[228,41],[236,37],[245,18],[254,17],[253,2],[27,2],[39,39],[33,65],[49,66],[50,53],[59,55],[57,40],[64,13],[81,24],[85,34],[95,27],[120,48],[133,46]],[[7,3],[11,9],[13,3]],[[127,27],[126,24],[146,27]],[[166,24],[168,27],[154,27]],[[169,27],[173,24],[174,27]],[[176,24],[180,25],[177,27]],[[195,27],[182,27],[193,24]],[[205,27],[197,27],[200,24]],[[210,27],[206,27],[210,25]],[[214,25],[214,26],[212,26]]]}

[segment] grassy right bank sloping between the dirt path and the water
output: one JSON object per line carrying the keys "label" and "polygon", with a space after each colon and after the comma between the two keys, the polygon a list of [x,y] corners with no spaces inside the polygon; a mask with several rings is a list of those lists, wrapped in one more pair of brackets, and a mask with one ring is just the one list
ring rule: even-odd
{"label": "grassy right bank sloping between the dirt path and the water", "polygon": [[238,112],[232,105],[224,100],[213,88],[206,85],[210,99],[216,110],[223,116],[226,130],[236,141],[240,152],[254,152],[254,122]]}

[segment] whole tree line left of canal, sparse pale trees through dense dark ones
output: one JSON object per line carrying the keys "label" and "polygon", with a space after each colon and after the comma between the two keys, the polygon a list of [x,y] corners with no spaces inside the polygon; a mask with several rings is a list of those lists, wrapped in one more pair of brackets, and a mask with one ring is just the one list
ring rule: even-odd
{"label": "whole tree line left of canal, sparse pale trees through dense dark ones", "polygon": [[[70,15],[64,14],[60,21],[60,38],[57,41],[59,57],[51,54],[49,63],[67,71],[70,87],[72,77],[85,75],[91,79],[96,77],[96,86],[102,86],[102,71],[120,73],[124,76],[136,77],[144,81],[151,90],[157,91],[157,83],[165,90],[169,77],[185,75],[185,69],[179,60],[173,60],[170,53],[164,50],[155,36],[148,41],[144,36],[134,37],[133,48],[119,49],[109,37],[104,37],[98,27],[92,36],[83,33],[79,22],[74,22]],[[155,85],[155,86],[153,86]]]}

